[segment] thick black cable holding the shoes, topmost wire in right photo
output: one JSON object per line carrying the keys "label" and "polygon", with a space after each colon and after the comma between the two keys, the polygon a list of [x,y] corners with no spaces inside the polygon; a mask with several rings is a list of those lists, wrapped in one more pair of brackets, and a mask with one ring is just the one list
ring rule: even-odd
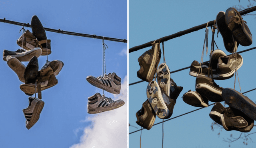
{"label": "thick black cable holding the shoes, topmost wire in right photo", "polygon": [[[250,13],[250,12],[253,12],[253,11],[255,11],[255,10],[256,10],[256,6],[251,7],[251,8],[247,8],[247,9],[245,9],[245,10],[242,10],[242,11],[240,11],[239,13],[240,13],[240,15],[244,15],[244,14],[248,14],[248,13]],[[170,35],[170,36],[162,37],[162,38],[161,38],[161,42],[168,41],[169,39],[173,39],[173,38],[176,38],[176,37],[183,36],[183,35],[185,35],[185,34],[189,34],[189,33],[191,33],[191,32],[198,31],[198,30],[200,30],[200,29],[205,28],[205,27],[206,27],[206,24],[207,24],[207,23],[204,23],[204,24],[202,24],[202,25],[195,26],[195,27],[192,27],[192,28],[190,28],[190,29],[177,32],[177,33],[172,34],[172,35]],[[213,20],[213,21],[210,21],[210,22],[208,23],[208,26],[212,26],[213,24],[214,24],[214,20]],[[154,41],[156,41],[156,43],[158,43],[158,40],[159,40],[159,39],[155,39]],[[129,53],[131,53],[131,52],[133,52],[133,51],[137,51],[137,50],[143,49],[143,48],[146,48],[146,47],[150,47],[150,46],[152,46],[151,43],[153,43],[154,41],[150,41],[150,42],[144,43],[144,44],[142,44],[142,45],[134,46],[134,47],[132,47],[132,48],[129,49]]]}

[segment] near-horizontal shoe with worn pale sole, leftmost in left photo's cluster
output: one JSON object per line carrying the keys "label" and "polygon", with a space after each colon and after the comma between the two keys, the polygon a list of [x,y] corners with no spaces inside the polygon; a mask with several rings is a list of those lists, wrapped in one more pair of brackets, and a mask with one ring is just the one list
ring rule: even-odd
{"label": "near-horizontal shoe with worn pale sole, leftmost in left photo's cluster", "polygon": [[34,48],[32,50],[25,50],[25,49],[18,49],[16,51],[9,51],[9,50],[4,50],[3,51],[3,60],[6,61],[6,57],[8,55],[12,57],[16,57],[19,61],[30,61],[32,57],[36,56],[39,57],[42,53],[41,48]]}

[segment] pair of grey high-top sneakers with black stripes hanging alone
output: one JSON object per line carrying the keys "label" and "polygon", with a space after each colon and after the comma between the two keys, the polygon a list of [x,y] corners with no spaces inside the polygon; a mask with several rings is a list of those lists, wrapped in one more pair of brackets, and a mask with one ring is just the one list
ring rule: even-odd
{"label": "pair of grey high-top sneakers with black stripes hanging alone", "polygon": [[[103,89],[109,93],[119,94],[121,90],[121,78],[116,73],[109,73],[108,75],[100,75],[93,77],[89,75],[86,80],[93,86]],[[89,114],[96,114],[104,111],[117,109],[124,105],[124,101],[119,99],[117,101],[106,97],[104,94],[96,93],[88,97],[87,112]]]}

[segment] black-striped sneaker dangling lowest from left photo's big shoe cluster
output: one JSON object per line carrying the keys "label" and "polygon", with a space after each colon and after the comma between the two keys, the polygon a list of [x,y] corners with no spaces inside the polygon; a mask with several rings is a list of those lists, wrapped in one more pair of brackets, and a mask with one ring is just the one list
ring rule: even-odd
{"label": "black-striped sneaker dangling lowest from left photo's big shoe cluster", "polygon": [[23,113],[26,118],[26,128],[29,130],[38,121],[44,107],[44,101],[36,97],[29,97],[28,101],[29,105],[26,109],[23,109]]}

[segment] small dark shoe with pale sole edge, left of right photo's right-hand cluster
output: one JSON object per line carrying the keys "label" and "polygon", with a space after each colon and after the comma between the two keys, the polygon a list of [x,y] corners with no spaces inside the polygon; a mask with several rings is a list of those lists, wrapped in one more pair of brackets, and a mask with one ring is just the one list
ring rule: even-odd
{"label": "small dark shoe with pale sole edge, left of right photo's right-hand cluster", "polygon": [[208,100],[206,97],[201,96],[196,91],[189,90],[183,96],[183,101],[188,105],[192,105],[193,107],[208,107]]}

